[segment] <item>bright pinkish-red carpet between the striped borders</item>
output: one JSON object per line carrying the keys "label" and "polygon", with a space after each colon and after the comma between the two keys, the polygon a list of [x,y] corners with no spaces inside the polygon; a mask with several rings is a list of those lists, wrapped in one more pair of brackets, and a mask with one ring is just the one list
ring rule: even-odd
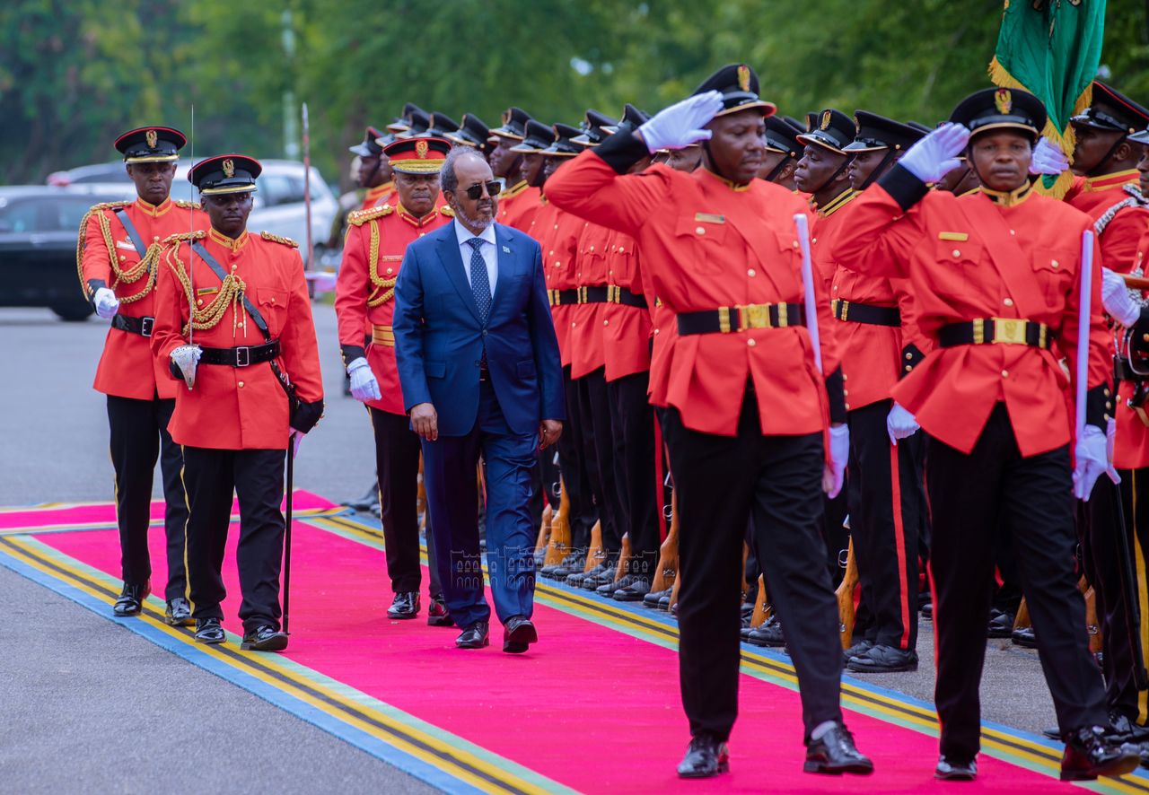
{"label": "bright pinkish-red carpet between the striped borders", "polygon": [[[304,493],[296,499],[299,509],[326,504]],[[107,520],[107,508],[98,507],[36,512],[48,525]],[[18,516],[0,514],[0,530],[26,526],[20,523],[31,517],[14,519]],[[234,617],[236,537],[233,527],[224,609],[228,628],[241,633]],[[40,541],[118,577],[114,531],[52,533]],[[152,533],[152,559],[153,582],[162,592],[160,528]],[[390,602],[381,550],[307,520],[295,523],[287,657],[571,788],[696,793],[955,787],[932,778],[934,738],[855,712],[847,713],[847,723],[878,772],[867,780],[803,774],[797,694],[749,676],[742,677],[741,716],[731,739],[733,772],[684,782],[673,775],[688,739],[673,651],[541,604],[534,616],[541,642],[532,653],[502,654],[498,627],[489,649],[461,651],[453,645],[455,630],[429,627],[423,616],[388,620]],[[1065,790],[1042,773],[986,755],[979,764],[978,781],[963,792]]]}

